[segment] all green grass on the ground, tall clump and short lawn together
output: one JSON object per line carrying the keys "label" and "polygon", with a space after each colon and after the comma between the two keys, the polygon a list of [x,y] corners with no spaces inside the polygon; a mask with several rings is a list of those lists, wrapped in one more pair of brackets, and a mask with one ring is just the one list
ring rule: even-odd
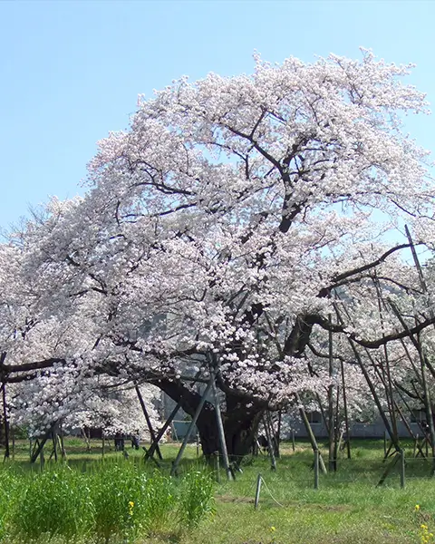
{"label": "all green grass on the ground, tall clump and short lawn together", "polygon": [[[20,513],[24,498],[43,496],[43,486],[48,490],[46,495],[52,497],[51,504],[65,512],[57,518],[53,515],[50,522],[64,519],[66,529],[52,531],[52,539],[47,534],[34,535],[40,544],[420,544],[420,525],[435,529],[431,462],[413,459],[411,443],[404,444],[404,490],[400,488],[399,464],[385,483],[376,487],[386,466],[381,441],[354,441],[353,459],[339,460],[336,473],[321,474],[318,490],[314,490],[313,452],[305,442],[298,442],[295,452],[284,445],[276,471],[271,471],[268,458],[260,455],[243,462],[237,481],[226,481],[221,470],[220,484],[210,482],[207,474],[211,469],[197,458],[195,447],[187,449],[180,465],[181,476],[171,479],[169,469],[177,453],[176,444],[162,446],[165,461],[159,474],[153,463],[143,466],[143,452],[131,451],[130,459],[124,461],[119,452],[106,451],[102,461],[101,443],[92,442],[91,453],[85,451],[84,441],[70,444],[67,440],[65,445],[73,470],[64,469],[66,476],[59,471],[56,478],[65,478],[67,485],[63,494],[55,497],[50,495],[55,490],[50,480],[55,463],[47,462],[42,476],[39,467],[28,471],[28,446],[24,442],[15,444],[15,461],[7,461],[0,475],[3,542],[30,542],[30,533],[24,538],[20,523],[25,527],[25,520],[32,516],[34,520],[37,515],[51,517],[50,513],[41,514],[43,510],[34,504],[38,500],[30,500]],[[68,473],[72,474],[71,481]],[[262,486],[259,509],[254,510],[258,473],[266,485]],[[189,478],[183,479],[187,474]],[[213,471],[211,474],[216,476]],[[35,483],[37,475],[41,480]],[[77,479],[82,479],[80,490],[74,488]],[[75,493],[74,497],[69,493]],[[212,493],[214,502],[209,500]],[[130,500],[134,502],[133,515],[128,509]],[[87,509],[82,507],[83,502]],[[415,511],[416,504],[420,511]],[[32,508],[36,513],[29,513]],[[73,529],[76,521],[70,515],[72,511],[77,512],[80,529]],[[37,525],[43,523],[38,521]]]}

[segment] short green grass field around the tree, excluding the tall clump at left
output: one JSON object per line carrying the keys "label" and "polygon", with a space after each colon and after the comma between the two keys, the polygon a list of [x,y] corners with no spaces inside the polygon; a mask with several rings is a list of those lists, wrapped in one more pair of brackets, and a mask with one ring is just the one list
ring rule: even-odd
{"label": "short green grass field around the tree, excluding the tall clump at left", "polygon": [[[104,467],[117,464],[137,464],[140,471],[153,471],[148,463],[143,467],[143,452],[128,448],[130,458],[122,459],[121,453],[106,451],[102,461],[101,442],[92,442],[91,452],[85,451],[80,439],[66,442],[69,466],[77,472],[91,474]],[[177,453],[177,444],[165,444],[161,448],[164,461],[162,471],[169,473],[171,461]],[[45,454],[48,458],[49,450]],[[381,487],[376,487],[386,463],[383,462],[382,442],[353,442],[353,459],[338,462],[338,471],[320,475],[319,489],[314,490],[313,453],[307,443],[298,442],[295,452],[284,445],[277,460],[277,470],[270,470],[266,456],[247,459],[243,472],[237,473],[236,481],[226,481],[220,471],[220,483],[214,486],[215,515],[206,516],[198,527],[162,524],[160,529],[149,530],[129,539],[111,538],[111,542],[137,542],[138,544],[382,544],[435,542],[430,537],[435,529],[435,481],[430,478],[430,461],[412,458],[411,444],[406,449],[406,486],[400,487],[399,463],[391,470]],[[14,461],[5,462],[5,470],[25,471],[28,468],[28,443],[15,444]],[[391,460],[387,461],[391,462]],[[55,463],[46,462],[44,471],[50,471]],[[60,464],[60,463],[58,463]],[[183,474],[196,470],[211,471],[197,457],[195,446],[189,446],[186,458],[180,466]],[[33,471],[40,471],[35,465]],[[263,486],[259,509],[254,509],[257,475],[261,473]],[[216,473],[211,474],[216,480]],[[104,494],[102,494],[104,497]],[[416,505],[418,508],[416,509]],[[423,526],[423,527],[421,527]],[[427,529],[425,529],[427,528]],[[434,530],[435,532],[435,530]],[[14,540],[15,539],[15,540]],[[97,541],[81,537],[82,542]],[[5,541],[24,542],[8,534]],[[29,540],[30,541],[30,540]],[[39,539],[48,542],[48,539]],[[51,539],[52,544],[66,539]],[[72,541],[71,539],[69,541]],[[104,539],[100,539],[104,541]]]}

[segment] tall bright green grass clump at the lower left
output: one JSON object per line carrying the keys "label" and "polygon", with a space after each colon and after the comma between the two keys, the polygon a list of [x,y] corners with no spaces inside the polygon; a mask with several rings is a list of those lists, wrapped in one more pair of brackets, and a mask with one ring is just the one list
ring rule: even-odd
{"label": "tall bright green grass clump at the lower left", "polygon": [[0,541],[133,541],[197,527],[212,510],[208,476],[173,480],[130,462],[0,474]]}

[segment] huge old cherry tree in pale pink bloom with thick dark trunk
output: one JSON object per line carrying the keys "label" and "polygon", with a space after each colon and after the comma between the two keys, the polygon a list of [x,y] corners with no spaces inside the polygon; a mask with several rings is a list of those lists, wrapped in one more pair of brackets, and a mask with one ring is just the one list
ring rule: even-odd
{"label": "huge old cherry tree in pale pink bloom with thick dark trunk", "polygon": [[[376,276],[412,298],[409,242],[386,240],[431,216],[428,154],[401,129],[427,111],[401,81],[410,69],[367,51],[256,56],[252,75],[141,97],[130,129],[100,142],[83,199],[53,200],[23,233],[43,311],[81,330],[41,360],[157,384],[191,415],[216,374],[237,456],[266,409],[324,388],[308,353],[321,358],[330,332],[377,350],[433,323],[381,322],[367,288]],[[214,412],[198,418],[206,454]]]}

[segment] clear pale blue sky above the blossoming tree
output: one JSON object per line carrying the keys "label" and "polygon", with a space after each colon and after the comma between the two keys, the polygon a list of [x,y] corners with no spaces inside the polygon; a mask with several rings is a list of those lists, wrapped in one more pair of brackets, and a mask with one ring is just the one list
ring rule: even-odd
{"label": "clear pale blue sky above the blossoming tree", "polygon": [[[435,103],[434,23],[435,0],[0,1],[0,228],[82,193],[95,142],[128,126],[139,93],[250,73],[255,50],[310,62],[372,48],[416,63],[409,81]],[[435,154],[433,128],[408,123]]]}

